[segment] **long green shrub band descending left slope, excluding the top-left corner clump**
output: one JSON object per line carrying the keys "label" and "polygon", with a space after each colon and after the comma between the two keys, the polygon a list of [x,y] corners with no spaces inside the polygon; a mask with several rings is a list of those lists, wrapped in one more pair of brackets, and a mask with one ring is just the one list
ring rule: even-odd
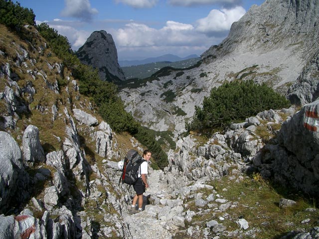
{"label": "long green shrub band descending left slope, excluding the top-left corner clump", "polygon": [[[141,142],[145,142],[145,145],[152,150],[153,157],[160,168],[165,167],[167,156],[165,156],[160,144],[141,128],[130,113],[125,111],[124,103],[117,95],[117,86],[114,83],[101,81],[97,70],[81,64],[72,52],[68,40],[58,34],[56,30],[50,28],[46,23],[41,23],[36,28],[48,40],[53,51],[63,59],[64,64],[72,69],[74,77],[80,81],[80,93],[90,97],[95,102],[98,113],[111,125],[112,129],[117,132],[128,131]],[[141,130],[144,131],[143,134],[139,133]]]}

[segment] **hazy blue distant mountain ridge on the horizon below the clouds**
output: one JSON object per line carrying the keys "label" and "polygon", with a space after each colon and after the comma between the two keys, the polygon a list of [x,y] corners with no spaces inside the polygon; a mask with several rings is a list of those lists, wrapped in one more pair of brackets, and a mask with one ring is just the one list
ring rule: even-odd
{"label": "hazy blue distant mountain ridge on the horizon below the clouds", "polygon": [[183,61],[183,60],[188,60],[191,58],[198,58],[199,56],[193,54],[189,55],[186,57],[179,57],[175,56],[172,54],[165,54],[159,57],[150,57],[146,58],[144,60],[124,60],[124,61],[119,61],[119,64],[121,67],[124,66],[138,66],[138,65],[144,65],[144,64],[149,64],[149,63],[154,63],[154,62],[162,62],[162,61],[169,61],[169,62],[175,62],[175,61]]}

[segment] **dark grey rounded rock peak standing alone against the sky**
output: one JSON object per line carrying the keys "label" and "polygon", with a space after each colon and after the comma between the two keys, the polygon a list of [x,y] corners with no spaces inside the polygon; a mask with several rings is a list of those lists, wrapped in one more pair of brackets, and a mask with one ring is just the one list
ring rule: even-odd
{"label": "dark grey rounded rock peak standing alone against the sky", "polygon": [[113,37],[106,31],[94,31],[76,54],[83,64],[99,70],[102,81],[125,80]]}

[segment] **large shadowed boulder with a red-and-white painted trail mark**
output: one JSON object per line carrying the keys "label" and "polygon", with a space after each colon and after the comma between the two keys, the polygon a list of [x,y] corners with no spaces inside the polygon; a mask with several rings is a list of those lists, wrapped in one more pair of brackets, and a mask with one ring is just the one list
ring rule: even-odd
{"label": "large shadowed boulder with a red-and-white painted trail mark", "polygon": [[265,178],[318,195],[319,101],[305,105],[287,119],[278,133],[278,144],[267,144],[253,159]]}

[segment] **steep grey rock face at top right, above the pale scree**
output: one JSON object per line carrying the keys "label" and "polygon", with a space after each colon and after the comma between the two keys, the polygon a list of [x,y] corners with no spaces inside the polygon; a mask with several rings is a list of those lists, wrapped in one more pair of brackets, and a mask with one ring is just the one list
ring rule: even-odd
{"label": "steep grey rock face at top right, above the pale scree", "polygon": [[211,46],[201,57],[222,56],[234,51],[268,52],[289,44],[303,44],[305,57],[316,49],[318,37],[319,4],[314,0],[266,0],[260,6],[253,5],[238,21],[229,35],[218,46]]}

